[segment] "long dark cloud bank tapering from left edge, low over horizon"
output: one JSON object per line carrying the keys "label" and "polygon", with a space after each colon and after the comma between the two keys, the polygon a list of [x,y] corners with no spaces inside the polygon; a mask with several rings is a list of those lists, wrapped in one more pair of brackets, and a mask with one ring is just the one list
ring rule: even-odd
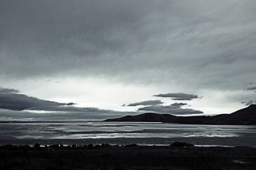
{"label": "long dark cloud bank tapering from left edge, low over horizon", "polygon": [[[136,114],[135,111],[102,110],[76,107],[75,103],[58,103],[18,94],[19,90],[0,89],[1,120],[97,120]],[[40,113],[37,113],[40,111]]]}

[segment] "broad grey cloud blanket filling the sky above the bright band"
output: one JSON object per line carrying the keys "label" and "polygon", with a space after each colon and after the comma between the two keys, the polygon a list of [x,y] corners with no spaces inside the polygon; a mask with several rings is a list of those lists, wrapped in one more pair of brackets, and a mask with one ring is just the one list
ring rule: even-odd
{"label": "broad grey cloud blanket filling the sky above the bright band", "polygon": [[2,0],[0,75],[103,74],[125,82],[238,89],[237,82],[255,77],[255,4]]}

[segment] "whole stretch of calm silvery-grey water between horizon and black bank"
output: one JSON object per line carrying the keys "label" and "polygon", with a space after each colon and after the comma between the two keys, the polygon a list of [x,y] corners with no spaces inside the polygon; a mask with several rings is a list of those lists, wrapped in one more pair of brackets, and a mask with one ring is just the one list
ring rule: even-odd
{"label": "whole stretch of calm silvery-grey water between horizon and black bank", "polygon": [[186,141],[196,145],[256,146],[256,126],[121,122],[0,124],[0,145],[17,144],[19,141],[108,142],[119,145],[124,143],[167,145],[172,141]]}

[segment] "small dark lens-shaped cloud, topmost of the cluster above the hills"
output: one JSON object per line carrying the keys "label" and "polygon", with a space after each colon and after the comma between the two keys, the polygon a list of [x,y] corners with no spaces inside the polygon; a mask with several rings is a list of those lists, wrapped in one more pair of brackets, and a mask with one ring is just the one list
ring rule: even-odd
{"label": "small dark lens-shaped cloud, topmost of the cluster above the hills", "polygon": [[190,101],[192,99],[198,98],[194,94],[184,94],[184,93],[168,93],[168,94],[157,94],[156,97],[170,97],[175,101]]}

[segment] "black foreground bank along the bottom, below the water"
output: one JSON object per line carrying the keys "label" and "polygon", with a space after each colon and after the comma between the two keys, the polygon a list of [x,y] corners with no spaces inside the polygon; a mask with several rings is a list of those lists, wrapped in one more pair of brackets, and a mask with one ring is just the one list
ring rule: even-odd
{"label": "black foreground bank along the bottom, below the water", "polygon": [[0,146],[0,169],[256,169],[256,148]]}

